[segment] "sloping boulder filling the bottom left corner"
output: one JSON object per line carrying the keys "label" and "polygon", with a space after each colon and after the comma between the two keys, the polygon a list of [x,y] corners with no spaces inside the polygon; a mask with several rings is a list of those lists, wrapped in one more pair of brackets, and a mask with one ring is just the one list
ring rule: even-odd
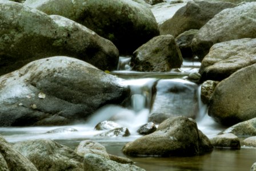
{"label": "sloping boulder filling the bottom left corner", "polygon": [[0,170],[37,171],[37,168],[0,136]]}

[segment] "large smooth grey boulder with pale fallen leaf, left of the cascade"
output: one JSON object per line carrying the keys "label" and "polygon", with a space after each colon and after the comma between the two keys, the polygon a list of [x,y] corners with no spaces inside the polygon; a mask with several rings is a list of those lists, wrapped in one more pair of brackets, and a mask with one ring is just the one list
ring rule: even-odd
{"label": "large smooth grey boulder with pale fallen leaf, left of the cascade", "polygon": [[0,77],[0,125],[65,125],[84,121],[105,104],[119,104],[122,79],[75,58],[35,60]]}

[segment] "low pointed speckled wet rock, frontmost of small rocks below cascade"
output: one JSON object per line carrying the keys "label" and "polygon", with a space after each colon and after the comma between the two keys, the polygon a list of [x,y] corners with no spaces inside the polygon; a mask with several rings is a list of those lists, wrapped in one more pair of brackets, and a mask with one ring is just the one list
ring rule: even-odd
{"label": "low pointed speckled wet rock, frontmost of small rocks below cascade", "polygon": [[111,129],[109,131],[100,133],[99,135],[96,135],[99,137],[127,137],[130,136],[130,132],[128,128],[122,127],[122,128],[115,128]]}

